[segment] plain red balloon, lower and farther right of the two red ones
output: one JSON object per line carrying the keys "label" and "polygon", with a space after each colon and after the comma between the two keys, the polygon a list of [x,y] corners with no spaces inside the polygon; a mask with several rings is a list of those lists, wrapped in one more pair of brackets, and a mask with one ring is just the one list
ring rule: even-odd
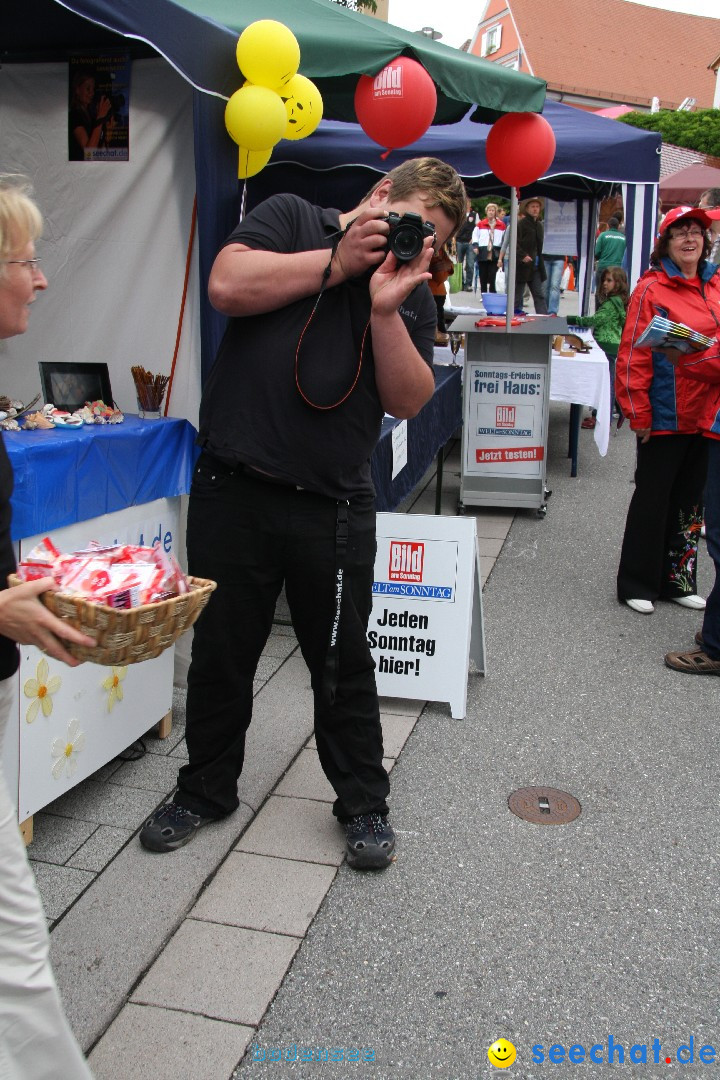
{"label": "plain red balloon, lower and farther right of the two red ones", "polygon": [[506,112],[490,129],[485,156],[499,180],[521,188],[548,168],[555,157],[555,133],[536,112]]}

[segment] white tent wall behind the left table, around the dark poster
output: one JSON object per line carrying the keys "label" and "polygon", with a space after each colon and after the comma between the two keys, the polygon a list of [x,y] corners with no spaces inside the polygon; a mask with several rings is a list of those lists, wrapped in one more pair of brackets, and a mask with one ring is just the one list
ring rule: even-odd
{"label": "white tent wall behind the left table, around the dark poster", "polygon": [[[0,69],[0,171],[28,176],[45,217],[50,287],[27,334],[0,342],[0,393],[29,401],[38,361],[105,362],[136,413],[131,367],[168,375],[195,192],[192,90],[163,59],[135,60],[128,162],[68,161],[67,64]],[[196,245],[168,415],[198,423]]]}

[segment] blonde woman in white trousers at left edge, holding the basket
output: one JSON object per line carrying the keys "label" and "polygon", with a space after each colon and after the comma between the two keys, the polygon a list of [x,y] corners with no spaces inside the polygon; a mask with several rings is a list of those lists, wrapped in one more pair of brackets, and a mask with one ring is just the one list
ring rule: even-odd
{"label": "blonde woman in white trousers at left edge, holding the basket", "polygon": [[[40,211],[22,177],[0,176],[0,338],[24,334],[30,306],[47,287],[35,254]],[[65,642],[93,645],[40,603],[52,578],[8,589],[15,569],[10,539],[13,474],[0,436],[0,748],[10,719],[18,666],[15,642],[35,645],[76,667]],[[9,1080],[91,1080],[63,1012],[50,966],[42,910],[17,813],[0,775],[0,1076]]]}

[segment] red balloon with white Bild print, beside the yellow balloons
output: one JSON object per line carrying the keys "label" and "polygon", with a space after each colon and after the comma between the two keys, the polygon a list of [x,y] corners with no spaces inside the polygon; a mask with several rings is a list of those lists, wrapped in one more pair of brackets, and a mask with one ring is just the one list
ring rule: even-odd
{"label": "red balloon with white Bild print, beside the yellow balloons", "polygon": [[371,78],[362,75],[355,89],[355,114],[373,143],[396,149],[425,134],[437,108],[435,83],[424,67],[398,56]]}

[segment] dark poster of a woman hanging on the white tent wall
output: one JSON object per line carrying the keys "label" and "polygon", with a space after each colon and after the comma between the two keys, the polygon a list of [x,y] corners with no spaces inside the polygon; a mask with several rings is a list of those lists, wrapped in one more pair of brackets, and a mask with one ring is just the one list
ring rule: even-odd
{"label": "dark poster of a woman hanging on the white tent wall", "polygon": [[72,56],[68,160],[130,161],[130,56]]}

